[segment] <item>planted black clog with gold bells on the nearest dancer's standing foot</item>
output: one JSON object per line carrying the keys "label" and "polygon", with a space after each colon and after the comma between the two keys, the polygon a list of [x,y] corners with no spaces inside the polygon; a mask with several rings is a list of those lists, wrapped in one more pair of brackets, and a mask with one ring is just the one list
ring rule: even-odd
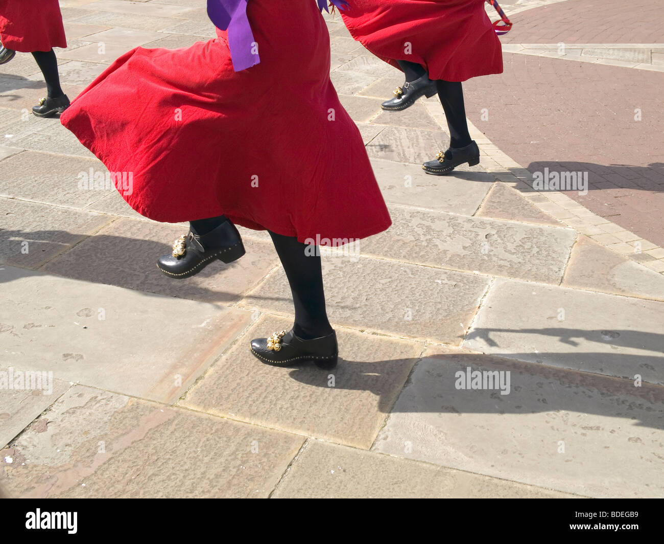
{"label": "planted black clog with gold bells on the nearest dancer's standing foot", "polygon": [[257,338],[251,342],[251,351],[263,362],[276,366],[315,363],[319,368],[334,368],[339,358],[337,334],[313,340],[302,340],[293,330],[274,333],[270,338]]}

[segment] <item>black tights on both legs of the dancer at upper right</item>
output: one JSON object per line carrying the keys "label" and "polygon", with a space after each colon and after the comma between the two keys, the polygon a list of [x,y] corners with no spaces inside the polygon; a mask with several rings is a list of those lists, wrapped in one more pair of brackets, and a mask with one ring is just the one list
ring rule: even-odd
{"label": "black tights on both legs of the dancer at upper right", "polygon": [[[406,81],[414,81],[424,74],[426,70],[417,63],[410,61],[396,61],[404,70]],[[468,123],[465,120],[465,104],[463,103],[463,88],[460,81],[436,80],[438,89],[438,98],[445,110],[445,117],[448,120],[450,129],[450,147],[464,148],[468,146],[471,140],[468,132]]]}

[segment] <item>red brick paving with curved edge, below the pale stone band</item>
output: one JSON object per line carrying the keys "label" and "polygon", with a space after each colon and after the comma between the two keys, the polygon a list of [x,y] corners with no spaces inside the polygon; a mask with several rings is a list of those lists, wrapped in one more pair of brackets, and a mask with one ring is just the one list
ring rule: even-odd
{"label": "red brick paving with curved edge, below the pale stone band", "polygon": [[664,246],[664,73],[511,53],[504,60],[503,74],[464,83],[475,126],[531,172],[587,170],[588,195],[570,198]]}

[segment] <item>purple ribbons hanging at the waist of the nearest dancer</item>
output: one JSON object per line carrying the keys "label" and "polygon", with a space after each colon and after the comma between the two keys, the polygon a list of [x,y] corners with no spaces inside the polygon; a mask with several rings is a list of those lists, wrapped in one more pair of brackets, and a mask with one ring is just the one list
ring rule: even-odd
{"label": "purple ribbons hanging at the waist of the nearest dancer", "polygon": [[[228,49],[230,60],[236,72],[251,68],[260,63],[258,45],[247,18],[248,0],[207,0],[207,12],[210,21],[220,30],[228,31]],[[345,9],[349,3],[345,0],[330,0],[339,9]],[[318,9],[327,9],[327,0],[317,0]]]}

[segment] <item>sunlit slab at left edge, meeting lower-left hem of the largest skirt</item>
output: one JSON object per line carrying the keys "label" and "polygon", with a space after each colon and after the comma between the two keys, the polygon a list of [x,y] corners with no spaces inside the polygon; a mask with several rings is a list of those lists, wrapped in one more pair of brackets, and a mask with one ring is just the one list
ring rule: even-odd
{"label": "sunlit slab at left edge, meeting lower-left hem of the largest skirt", "polygon": [[0,196],[82,209],[111,191],[117,193],[104,188],[105,183],[96,190],[96,172],[108,172],[97,159],[25,151],[2,162]]}

